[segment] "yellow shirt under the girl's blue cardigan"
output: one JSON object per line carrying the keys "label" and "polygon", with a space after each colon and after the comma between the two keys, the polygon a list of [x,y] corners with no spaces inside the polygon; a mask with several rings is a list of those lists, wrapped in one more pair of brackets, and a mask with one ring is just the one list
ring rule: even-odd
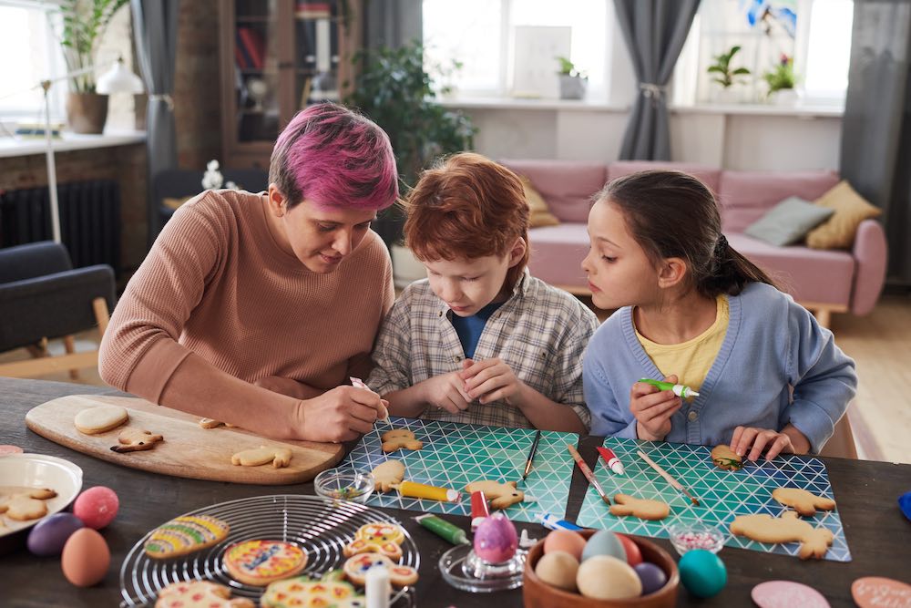
{"label": "yellow shirt under the girl's blue cardigan", "polygon": [[636,330],[636,337],[639,338],[642,348],[661,374],[676,374],[679,378],[678,384],[690,386],[697,393],[705,381],[705,376],[709,374],[711,364],[715,362],[715,357],[722,349],[724,335],[728,331],[728,321],[731,319],[728,296],[721,294],[715,302],[717,312],[711,327],[681,344],[660,345]]}

